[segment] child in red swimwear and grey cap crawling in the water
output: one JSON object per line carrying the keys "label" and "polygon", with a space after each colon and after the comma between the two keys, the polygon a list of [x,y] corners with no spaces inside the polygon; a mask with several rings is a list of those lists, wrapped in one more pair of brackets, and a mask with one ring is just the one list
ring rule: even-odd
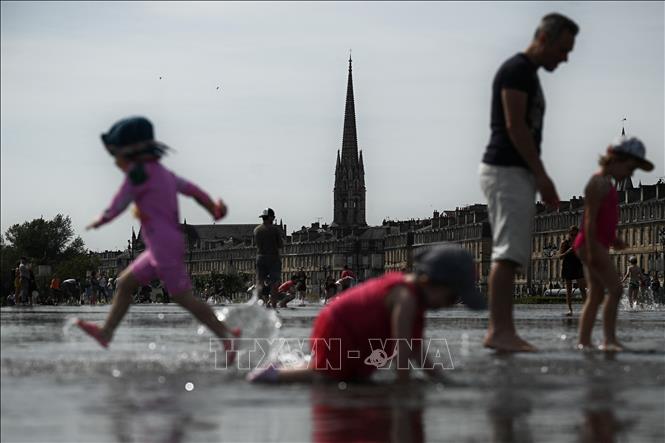
{"label": "child in red swimwear and grey cap crawling in the water", "polygon": [[[311,335],[307,366],[277,368],[270,364],[250,372],[251,382],[367,379],[381,352],[397,363],[397,380],[409,379],[409,360],[430,376],[443,378],[441,366],[422,352],[425,312],[452,306],[459,298],[471,309],[484,309],[475,285],[474,261],[462,248],[438,246],[416,256],[414,272],[387,273],[349,289],[326,305]],[[391,340],[388,342],[388,340]],[[386,344],[376,349],[377,343]],[[395,346],[395,343],[396,346]],[[380,351],[380,352],[379,352]],[[388,357],[390,356],[390,357]]]}

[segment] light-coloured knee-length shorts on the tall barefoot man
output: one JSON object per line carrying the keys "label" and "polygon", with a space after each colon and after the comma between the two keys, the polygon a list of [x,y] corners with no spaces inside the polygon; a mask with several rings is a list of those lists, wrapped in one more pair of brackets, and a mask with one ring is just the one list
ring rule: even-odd
{"label": "light-coloured knee-length shorts on the tall barefoot man", "polygon": [[478,175],[492,227],[492,261],[509,260],[526,269],[536,210],[533,174],[519,166],[481,163]]}

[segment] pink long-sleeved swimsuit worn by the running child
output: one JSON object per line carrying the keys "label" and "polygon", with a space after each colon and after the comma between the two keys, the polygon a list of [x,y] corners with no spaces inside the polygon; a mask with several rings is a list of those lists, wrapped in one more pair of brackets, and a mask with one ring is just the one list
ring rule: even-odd
{"label": "pink long-sleeved swimsuit worn by the running child", "polygon": [[147,179],[134,184],[128,173],[99,225],[113,220],[133,201],[139,211],[146,250],[130,265],[132,274],[141,284],[159,278],[171,294],[181,294],[191,289],[192,284],[183,262],[185,241],[178,223],[178,192],[195,198],[202,206],[210,207],[212,200],[158,161],[135,166],[143,168]]}

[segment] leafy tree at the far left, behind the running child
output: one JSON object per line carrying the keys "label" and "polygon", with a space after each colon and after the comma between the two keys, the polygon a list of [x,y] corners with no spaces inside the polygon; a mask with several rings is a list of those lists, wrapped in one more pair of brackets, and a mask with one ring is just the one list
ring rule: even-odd
{"label": "leafy tree at the far left, behind the running child", "polygon": [[74,237],[69,216],[56,215],[52,220],[36,218],[7,229],[8,246],[37,264],[56,265],[60,261],[85,254],[81,237]]}

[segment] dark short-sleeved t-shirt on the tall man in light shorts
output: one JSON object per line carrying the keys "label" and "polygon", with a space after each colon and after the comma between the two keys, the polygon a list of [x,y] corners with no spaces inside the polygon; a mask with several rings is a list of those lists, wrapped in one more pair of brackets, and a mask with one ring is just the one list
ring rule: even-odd
{"label": "dark short-sleeved t-shirt on the tall man in light shorts", "polygon": [[483,156],[483,163],[528,168],[522,156],[513,146],[506,129],[506,118],[503,112],[503,101],[501,100],[502,89],[515,89],[527,94],[526,125],[531,131],[533,141],[540,155],[545,97],[540,88],[537,70],[538,67],[525,54],[519,53],[506,60],[494,76],[490,123],[492,135]]}

